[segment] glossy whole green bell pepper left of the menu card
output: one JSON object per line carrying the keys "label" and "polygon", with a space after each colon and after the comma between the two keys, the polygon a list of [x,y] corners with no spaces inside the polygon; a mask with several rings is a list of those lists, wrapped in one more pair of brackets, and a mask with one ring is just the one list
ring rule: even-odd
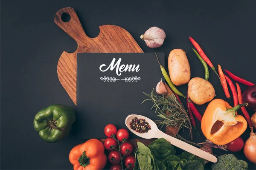
{"label": "glossy whole green bell pepper left of the menu card", "polygon": [[46,142],[58,142],[68,136],[76,113],[64,105],[50,105],[35,115],[34,128]]}

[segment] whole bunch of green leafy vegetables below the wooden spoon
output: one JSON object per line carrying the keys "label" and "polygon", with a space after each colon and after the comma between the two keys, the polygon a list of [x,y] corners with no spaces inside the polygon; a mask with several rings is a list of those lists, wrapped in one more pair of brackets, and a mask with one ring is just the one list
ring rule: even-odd
{"label": "whole bunch of green leafy vegetables below the wooden spoon", "polygon": [[183,152],[176,156],[176,150],[166,139],[160,138],[146,147],[137,142],[134,170],[203,170],[204,159]]}

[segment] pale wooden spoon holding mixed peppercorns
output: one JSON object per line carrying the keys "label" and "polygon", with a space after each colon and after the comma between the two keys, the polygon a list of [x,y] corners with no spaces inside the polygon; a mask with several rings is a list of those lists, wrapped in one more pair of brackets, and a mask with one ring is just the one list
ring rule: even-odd
{"label": "pale wooden spoon holding mixed peppercorns", "polygon": [[132,133],[140,136],[141,138],[164,138],[176,147],[186,150],[187,152],[192,153],[195,156],[214,163],[217,162],[217,158],[212,154],[207,153],[204,150],[194,147],[172,136],[169,136],[166,133],[163,133],[161,130],[158,129],[154,121],[145,116],[137,114],[128,115],[125,119],[125,125],[131,130]]}

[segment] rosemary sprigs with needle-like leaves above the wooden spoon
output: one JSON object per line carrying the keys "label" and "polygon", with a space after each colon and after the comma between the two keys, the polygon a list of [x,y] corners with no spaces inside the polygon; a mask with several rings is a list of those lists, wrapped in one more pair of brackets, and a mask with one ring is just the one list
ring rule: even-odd
{"label": "rosemary sprigs with needle-like leaves above the wooden spoon", "polygon": [[[161,120],[155,121],[158,127],[162,128],[165,125],[179,127],[179,129],[181,127],[192,128],[186,109],[180,104],[174,94],[167,95],[166,97],[164,95],[154,95],[154,88],[151,94],[144,94],[148,96],[149,99],[145,99],[143,102],[154,102],[151,110],[155,108],[155,112],[158,113],[157,116],[161,118]],[[166,111],[170,114],[167,114]]]}

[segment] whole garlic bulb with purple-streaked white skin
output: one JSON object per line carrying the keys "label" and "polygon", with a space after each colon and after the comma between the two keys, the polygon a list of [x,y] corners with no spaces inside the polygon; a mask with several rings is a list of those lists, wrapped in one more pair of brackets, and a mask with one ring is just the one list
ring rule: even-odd
{"label": "whole garlic bulb with purple-streaked white skin", "polygon": [[149,48],[158,48],[163,45],[166,34],[161,28],[151,27],[140,38],[145,41]]}

